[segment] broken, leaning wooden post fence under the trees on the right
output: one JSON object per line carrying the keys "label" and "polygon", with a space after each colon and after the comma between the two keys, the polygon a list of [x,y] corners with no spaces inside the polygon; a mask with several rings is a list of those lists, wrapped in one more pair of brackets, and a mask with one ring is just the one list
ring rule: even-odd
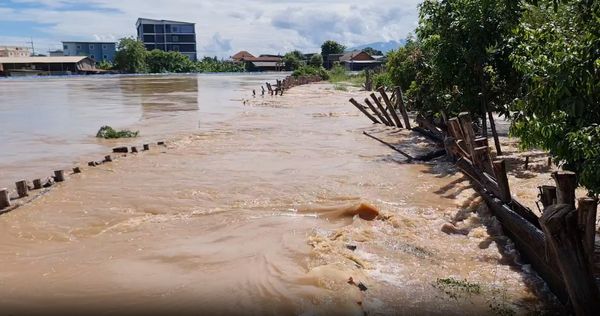
{"label": "broken, leaning wooden post fence under the trees on the right", "polygon": [[375,94],[370,95],[373,103],[365,99],[367,106],[354,99],[350,102],[374,124],[402,128],[397,119],[400,114],[406,120],[406,128],[443,145],[446,154],[502,223],[520,254],[565,306],[576,315],[600,315],[600,291],[594,276],[598,200],[582,197],[576,204],[576,175],[557,171],[552,174],[555,186],[539,187],[543,211],[538,217],[512,196],[506,161],[492,159],[488,138],[475,133],[469,113],[461,113],[439,125],[418,115],[415,120],[418,126],[411,128],[402,91],[394,89],[391,98],[383,89],[378,91],[386,107]]}

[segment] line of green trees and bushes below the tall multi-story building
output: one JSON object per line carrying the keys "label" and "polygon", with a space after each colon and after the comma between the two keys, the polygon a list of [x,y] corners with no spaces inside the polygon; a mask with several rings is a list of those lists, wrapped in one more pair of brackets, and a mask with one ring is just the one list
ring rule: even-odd
{"label": "line of green trees and bushes below the tall multi-story building", "polygon": [[[110,65],[101,65],[105,69]],[[244,66],[216,57],[192,61],[180,52],[148,51],[144,43],[134,38],[123,38],[117,45],[112,68],[126,73],[191,73],[243,72]]]}

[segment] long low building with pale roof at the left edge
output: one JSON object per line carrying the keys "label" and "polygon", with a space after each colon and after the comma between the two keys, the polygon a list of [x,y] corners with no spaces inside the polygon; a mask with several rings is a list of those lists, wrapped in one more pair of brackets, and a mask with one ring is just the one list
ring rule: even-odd
{"label": "long low building with pale roof at the left edge", "polygon": [[0,57],[0,75],[67,75],[99,72],[87,56]]}

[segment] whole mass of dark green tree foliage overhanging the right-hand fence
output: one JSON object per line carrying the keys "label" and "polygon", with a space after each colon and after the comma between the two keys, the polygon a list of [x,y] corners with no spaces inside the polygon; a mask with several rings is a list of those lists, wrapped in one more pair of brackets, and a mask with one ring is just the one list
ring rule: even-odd
{"label": "whole mass of dark green tree foliage overhanging the right-hand fence", "polygon": [[426,116],[493,111],[600,193],[600,2],[426,0],[387,78]]}

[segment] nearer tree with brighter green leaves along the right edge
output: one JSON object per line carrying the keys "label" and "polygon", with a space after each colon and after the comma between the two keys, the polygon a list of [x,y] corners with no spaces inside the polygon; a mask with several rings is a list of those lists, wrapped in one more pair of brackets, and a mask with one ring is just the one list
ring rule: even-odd
{"label": "nearer tree with brighter green leaves along the right edge", "polygon": [[[532,1],[533,2],[533,1]],[[600,2],[538,0],[525,5],[511,55],[522,74],[512,133],[549,150],[600,193]]]}

